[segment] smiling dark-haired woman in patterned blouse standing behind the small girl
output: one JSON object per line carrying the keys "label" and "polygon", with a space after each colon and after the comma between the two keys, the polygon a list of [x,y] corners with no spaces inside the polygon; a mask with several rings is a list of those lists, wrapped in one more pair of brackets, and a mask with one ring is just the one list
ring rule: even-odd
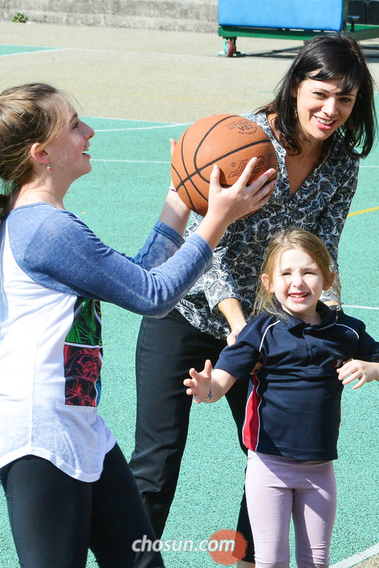
{"label": "smiling dark-haired woman in patterned blouse standing behind the small girl", "polygon": [[[189,410],[182,384],[189,368],[213,365],[251,318],[260,266],[270,238],[287,226],[319,236],[338,273],[338,242],[357,188],[359,157],[373,146],[373,79],[357,41],[325,34],[305,43],[277,97],[250,117],[277,151],[277,187],[260,210],[230,226],[215,249],[213,268],[165,318],[143,318],[136,354],[137,424],[131,468],[157,534],[163,532],[185,448]],[[357,146],[360,152],[356,151]],[[201,221],[192,215],[188,237]],[[338,291],[321,297],[335,309]],[[201,366],[203,365],[203,367]],[[227,393],[240,436],[246,393]],[[237,530],[253,542],[242,499]]]}

